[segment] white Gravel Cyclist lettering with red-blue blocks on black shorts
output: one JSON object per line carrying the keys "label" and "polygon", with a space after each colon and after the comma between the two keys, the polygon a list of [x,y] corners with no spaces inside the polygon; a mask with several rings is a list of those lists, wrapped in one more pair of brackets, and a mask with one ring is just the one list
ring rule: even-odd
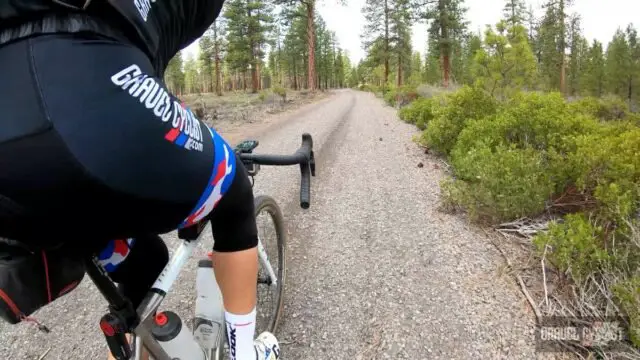
{"label": "white Gravel Cyclist lettering with red-blue blocks on black shorts", "polygon": [[138,65],[130,65],[111,77],[111,81],[163,122],[171,121],[172,129],[165,139],[187,150],[202,151],[202,125],[191,110],[173,100],[156,79],[144,74]]}

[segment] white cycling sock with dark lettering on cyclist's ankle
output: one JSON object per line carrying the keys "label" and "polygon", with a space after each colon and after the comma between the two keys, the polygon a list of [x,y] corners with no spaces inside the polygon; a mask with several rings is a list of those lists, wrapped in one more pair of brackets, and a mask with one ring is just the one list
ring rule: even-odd
{"label": "white cycling sock with dark lettering on cyclist's ankle", "polygon": [[224,312],[231,360],[255,360],[253,336],[256,331],[256,308],[246,315]]}

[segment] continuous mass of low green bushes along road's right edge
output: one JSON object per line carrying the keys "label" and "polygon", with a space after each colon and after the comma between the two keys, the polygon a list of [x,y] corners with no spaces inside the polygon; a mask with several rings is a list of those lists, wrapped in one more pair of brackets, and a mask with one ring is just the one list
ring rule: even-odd
{"label": "continuous mass of low green bushes along road's right edge", "polygon": [[444,205],[490,224],[561,216],[534,238],[538,255],[578,293],[604,286],[640,347],[638,114],[615,97],[567,103],[530,92],[498,102],[470,87],[444,97],[400,110],[404,121],[426,127],[420,141],[452,165],[453,178],[441,183]]}

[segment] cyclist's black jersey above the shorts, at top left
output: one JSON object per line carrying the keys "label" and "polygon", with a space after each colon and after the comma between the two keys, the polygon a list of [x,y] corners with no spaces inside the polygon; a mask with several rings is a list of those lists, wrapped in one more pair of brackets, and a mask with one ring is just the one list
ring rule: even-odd
{"label": "cyclist's black jersey above the shorts, at top left", "polygon": [[[145,51],[157,74],[162,75],[168,61],[213,23],[223,3],[224,0],[0,1],[0,31],[20,28],[15,36],[21,37],[38,32],[84,30],[111,35],[106,26],[91,24],[92,20],[101,21],[124,33]],[[78,15],[83,13],[90,17],[79,21]],[[0,34],[0,43],[2,37]]]}

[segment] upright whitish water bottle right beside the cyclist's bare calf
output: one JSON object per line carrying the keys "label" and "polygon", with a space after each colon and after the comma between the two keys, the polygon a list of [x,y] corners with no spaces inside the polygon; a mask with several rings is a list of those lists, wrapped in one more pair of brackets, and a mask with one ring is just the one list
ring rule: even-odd
{"label": "upright whitish water bottle right beside the cyclist's bare calf", "polygon": [[198,262],[196,294],[193,334],[202,348],[215,350],[223,344],[225,323],[222,293],[214,277],[211,260]]}

